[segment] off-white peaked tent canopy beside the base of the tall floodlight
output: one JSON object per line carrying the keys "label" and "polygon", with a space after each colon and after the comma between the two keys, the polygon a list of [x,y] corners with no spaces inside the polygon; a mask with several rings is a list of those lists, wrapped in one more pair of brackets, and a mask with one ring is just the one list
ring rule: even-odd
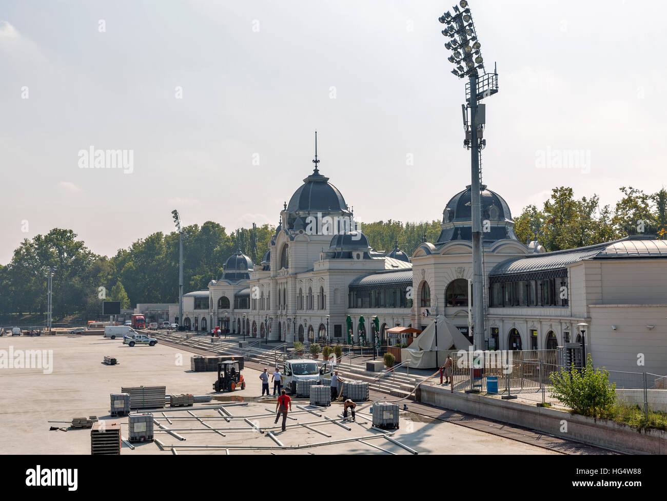
{"label": "off-white peaked tent canopy beside the base of the tall floodlight", "polygon": [[[451,350],[468,350],[470,341],[452,322],[441,315],[438,322],[438,362],[444,363]],[[401,350],[401,359],[410,360],[411,368],[436,367],[436,322],[432,322],[408,348]]]}

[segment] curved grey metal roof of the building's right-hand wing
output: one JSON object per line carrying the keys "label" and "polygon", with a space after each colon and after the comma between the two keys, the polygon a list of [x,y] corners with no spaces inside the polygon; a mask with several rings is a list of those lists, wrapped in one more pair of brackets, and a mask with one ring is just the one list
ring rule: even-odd
{"label": "curved grey metal roof of the building's right-hand wing", "polygon": [[[491,270],[490,278],[500,280],[532,280],[533,274],[544,272],[561,272],[553,276],[565,276],[568,265],[584,260],[594,259],[628,259],[628,258],[667,258],[667,243],[662,240],[650,239],[647,235],[624,237],[612,242],[598,243],[589,247],[579,247],[544,254],[532,254],[525,258],[511,258],[498,263]],[[545,275],[546,277],[546,275]]]}

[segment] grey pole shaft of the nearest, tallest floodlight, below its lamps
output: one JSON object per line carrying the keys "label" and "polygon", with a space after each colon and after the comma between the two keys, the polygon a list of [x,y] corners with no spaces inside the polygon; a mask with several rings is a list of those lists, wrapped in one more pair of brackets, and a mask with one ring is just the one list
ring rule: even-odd
{"label": "grey pole shaft of the nearest, tallest floodlight, below its lamps", "polygon": [[484,350],[484,282],[482,280],[482,204],[477,140],[477,72],[470,75],[470,205],[472,205],[472,296],[475,350]]}

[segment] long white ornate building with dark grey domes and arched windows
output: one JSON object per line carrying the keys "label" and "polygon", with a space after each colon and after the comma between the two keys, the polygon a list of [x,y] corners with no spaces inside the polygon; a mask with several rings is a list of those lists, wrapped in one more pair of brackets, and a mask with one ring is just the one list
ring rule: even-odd
{"label": "long white ornate building with dark grey domes and arched windows", "polygon": [[[284,205],[262,262],[253,264],[240,250],[230,256],[208,290],[184,296],[185,325],[339,343],[348,341],[350,324],[355,342],[360,333],[371,340],[377,316],[386,344],[387,328],[423,330],[442,314],[470,335],[470,187],[446,204],[438,241],[422,242],[408,258],[398,247],[375,251],[358,231],[332,235],[327,221],[352,212],[315,165]],[[486,187],[482,219],[489,348],[554,348],[578,341],[578,324],[586,323],[586,348],[596,365],[667,373],[664,241],[642,235],[546,253],[536,241],[518,241],[506,201]]]}

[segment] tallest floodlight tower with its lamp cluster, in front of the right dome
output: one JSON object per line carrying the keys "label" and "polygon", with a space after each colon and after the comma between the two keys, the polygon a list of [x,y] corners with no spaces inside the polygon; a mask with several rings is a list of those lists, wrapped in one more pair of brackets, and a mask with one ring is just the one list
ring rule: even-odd
{"label": "tallest floodlight tower with its lamp cluster, in front of the right dome", "polygon": [[[450,37],[445,47],[452,51],[448,57],[454,63],[454,76],[468,77],[466,84],[466,105],[462,105],[466,139],[464,147],[470,149],[472,205],[472,302],[474,308],[473,344],[476,350],[484,350],[484,270],[482,270],[482,203],[480,193],[480,150],[486,146],[483,139],[486,122],[485,105],[479,101],[498,92],[498,73],[487,73],[468,2],[461,0],[452,8],[454,15],[447,11],[438,21],[447,24],[442,34]],[[481,72],[480,72],[481,70]],[[470,121],[468,120],[470,110]]]}

